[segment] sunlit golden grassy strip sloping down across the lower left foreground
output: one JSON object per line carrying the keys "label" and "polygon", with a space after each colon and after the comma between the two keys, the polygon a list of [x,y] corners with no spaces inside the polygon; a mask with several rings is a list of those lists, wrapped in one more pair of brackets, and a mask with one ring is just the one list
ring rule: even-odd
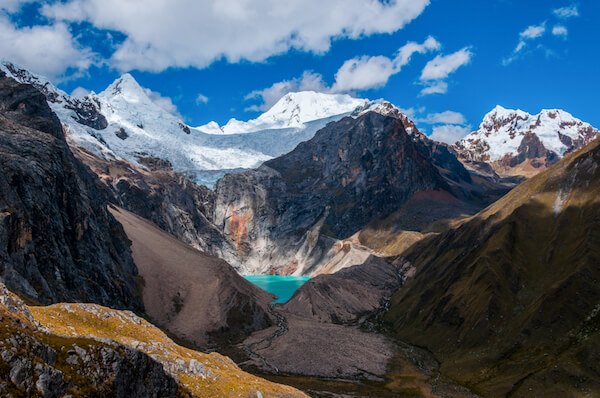
{"label": "sunlit golden grassy strip sloping down across the lower left foreground", "polygon": [[[115,311],[94,304],[55,304],[30,307],[43,327],[57,336],[111,340],[133,347],[165,365],[184,388],[198,397],[255,396],[301,397],[303,393],[268,382],[240,370],[218,353],[204,354],[175,344],[161,330],[130,312]],[[196,360],[205,367],[205,376],[185,370]],[[177,363],[185,364],[182,367]]]}

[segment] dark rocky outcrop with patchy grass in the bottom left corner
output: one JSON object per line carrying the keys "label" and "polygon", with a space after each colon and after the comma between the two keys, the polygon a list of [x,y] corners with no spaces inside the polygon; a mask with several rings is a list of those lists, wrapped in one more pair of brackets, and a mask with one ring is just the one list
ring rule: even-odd
{"label": "dark rocky outcrop with patchy grass in the bottom left corner", "polygon": [[83,336],[47,334],[2,284],[0,315],[2,396],[189,396],[162,364],[143,352]]}

